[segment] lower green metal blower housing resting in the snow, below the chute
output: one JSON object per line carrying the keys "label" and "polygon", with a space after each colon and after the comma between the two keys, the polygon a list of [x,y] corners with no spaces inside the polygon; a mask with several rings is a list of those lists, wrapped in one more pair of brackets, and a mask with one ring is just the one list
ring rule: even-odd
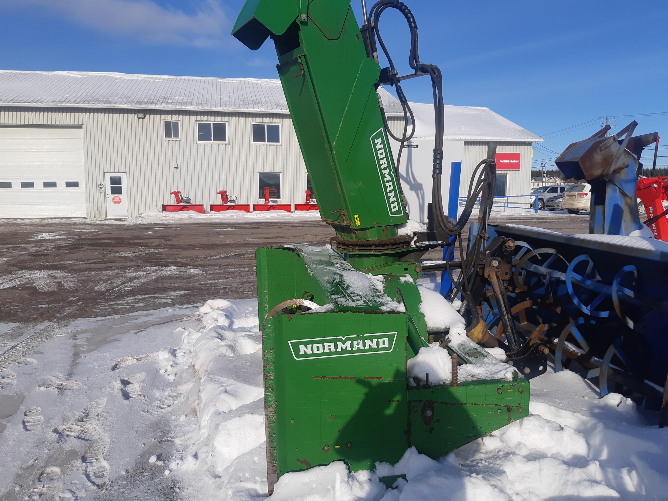
{"label": "lower green metal blower housing resting in the snow, below the chute", "polygon": [[[407,385],[406,362],[428,343],[415,266],[363,273],[327,247],[259,248],[256,258],[270,486],[335,460],[353,470],[396,462],[410,446],[438,458],[528,413],[522,377]],[[267,318],[295,298],[319,307]],[[464,363],[488,357],[473,341],[453,352]]]}

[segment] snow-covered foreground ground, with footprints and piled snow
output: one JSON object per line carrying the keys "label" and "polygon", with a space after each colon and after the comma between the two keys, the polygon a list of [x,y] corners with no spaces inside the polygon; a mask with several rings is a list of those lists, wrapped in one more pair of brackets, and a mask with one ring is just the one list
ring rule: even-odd
{"label": "snow-covered foreground ground, with footprints and piled snow", "polygon": [[[266,497],[260,348],[255,300],[77,321],[0,374],[0,499]],[[272,499],[663,500],[668,429],[655,423],[547,373],[530,415],[439,461],[339,462],[283,476]],[[387,474],[406,480],[386,490]]]}

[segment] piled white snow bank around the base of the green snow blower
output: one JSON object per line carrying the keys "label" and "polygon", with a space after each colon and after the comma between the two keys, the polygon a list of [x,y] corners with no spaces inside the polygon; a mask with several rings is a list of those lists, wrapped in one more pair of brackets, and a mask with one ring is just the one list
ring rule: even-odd
{"label": "piled white snow bank around the base of the green snow blower", "polygon": [[[198,327],[185,331],[182,346],[162,361],[168,378],[190,378],[181,391],[187,395],[181,408],[194,410],[174,418],[178,454],[166,468],[181,479],[184,500],[264,498],[261,337],[255,301],[209,301],[198,315]],[[439,357],[447,353],[436,347],[424,350]],[[447,359],[438,363],[444,373],[451,367]],[[343,462],[334,462],[285,474],[271,499],[665,499],[668,429],[648,424],[629,399],[615,393],[599,399],[576,374],[548,372],[531,381],[530,410],[522,420],[438,460],[409,449],[397,464],[378,463],[375,471],[349,472]],[[403,477],[386,490],[379,478],[389,475]]]}

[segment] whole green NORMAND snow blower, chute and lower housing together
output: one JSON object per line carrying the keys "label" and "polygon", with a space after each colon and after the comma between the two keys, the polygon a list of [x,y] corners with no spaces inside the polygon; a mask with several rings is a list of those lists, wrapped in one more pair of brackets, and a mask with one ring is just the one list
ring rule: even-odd
{"label": "whole green NORMAND snow blower, chute and lower housing together", "polygon": [[[387,3],[413,19],[403,3]],[[460,364],[490,355],[461,335],[428,332],[417,260],[448,238],[436,228],[436,241],[416,246],[399,231],[407,214],[377,94],[399,80],[373,57],[367,23],[360,31],[349,0],[248,0],[232,34],[251,49],[273,39],[321,218],[336,233],[331,247],[257,250],[269,491],[287,472],[335,460],[372,469],[410,446],[438,458],[527,415],[519,375],[408,380],[407,361],[430,341]],[[416,75],[436,71],[416,65]]]}

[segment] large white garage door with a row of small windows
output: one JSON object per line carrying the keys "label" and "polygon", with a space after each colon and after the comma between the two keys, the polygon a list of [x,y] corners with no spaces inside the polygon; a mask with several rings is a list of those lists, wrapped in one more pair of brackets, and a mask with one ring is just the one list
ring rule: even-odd
{"label": "large white garage door with a row of small windows", "polygon": [[86,217],[80,127],[0,126],[0,218]]}

